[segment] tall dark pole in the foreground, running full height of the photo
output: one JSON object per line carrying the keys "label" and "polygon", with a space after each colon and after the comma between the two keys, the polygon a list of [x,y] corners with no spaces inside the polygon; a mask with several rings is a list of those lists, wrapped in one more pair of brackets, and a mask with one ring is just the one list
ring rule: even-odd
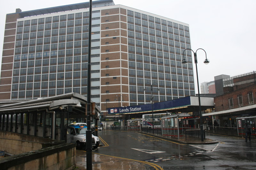
{"label": "tall dark pole in the foreground, running full height of the photo", "polygon": [[89,4],[89,40],[87,71],[87,130],[86,130],[86,169],[92,170],[92,130],[91,130],[91,38],[92,37],[92,0]]}

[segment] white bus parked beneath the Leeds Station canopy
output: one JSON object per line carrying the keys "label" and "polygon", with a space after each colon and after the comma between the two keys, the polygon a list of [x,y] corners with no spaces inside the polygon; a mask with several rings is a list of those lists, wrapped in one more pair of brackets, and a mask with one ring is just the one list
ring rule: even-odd
{"label": "white bus parked beneath the Leeds Station canopy", "polygon": [[[164,116],[168,116],[168,115],[171,115],[171,113],[166,112],[166,113],[156,113],[156,114],[153,114],[153,116],[154,116],[154,127],[161,127],[160,118],[162,118]],[[153,125],[152,114],[142,115],[142,119],[145,119],[146,126],[151,127]]]}

